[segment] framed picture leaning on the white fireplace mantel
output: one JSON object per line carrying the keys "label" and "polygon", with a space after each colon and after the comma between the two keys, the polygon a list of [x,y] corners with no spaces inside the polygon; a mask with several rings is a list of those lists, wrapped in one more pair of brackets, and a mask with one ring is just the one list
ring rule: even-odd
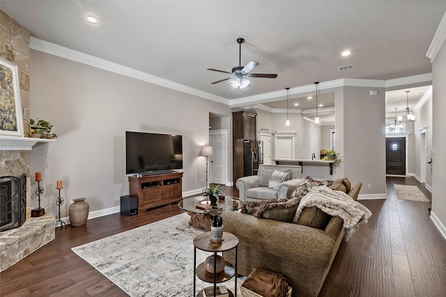
{"label": "framed picture leaning on the white fireplace mantel", "polygon": [[17,65],[0,58],[0,135],[23,137]]}

